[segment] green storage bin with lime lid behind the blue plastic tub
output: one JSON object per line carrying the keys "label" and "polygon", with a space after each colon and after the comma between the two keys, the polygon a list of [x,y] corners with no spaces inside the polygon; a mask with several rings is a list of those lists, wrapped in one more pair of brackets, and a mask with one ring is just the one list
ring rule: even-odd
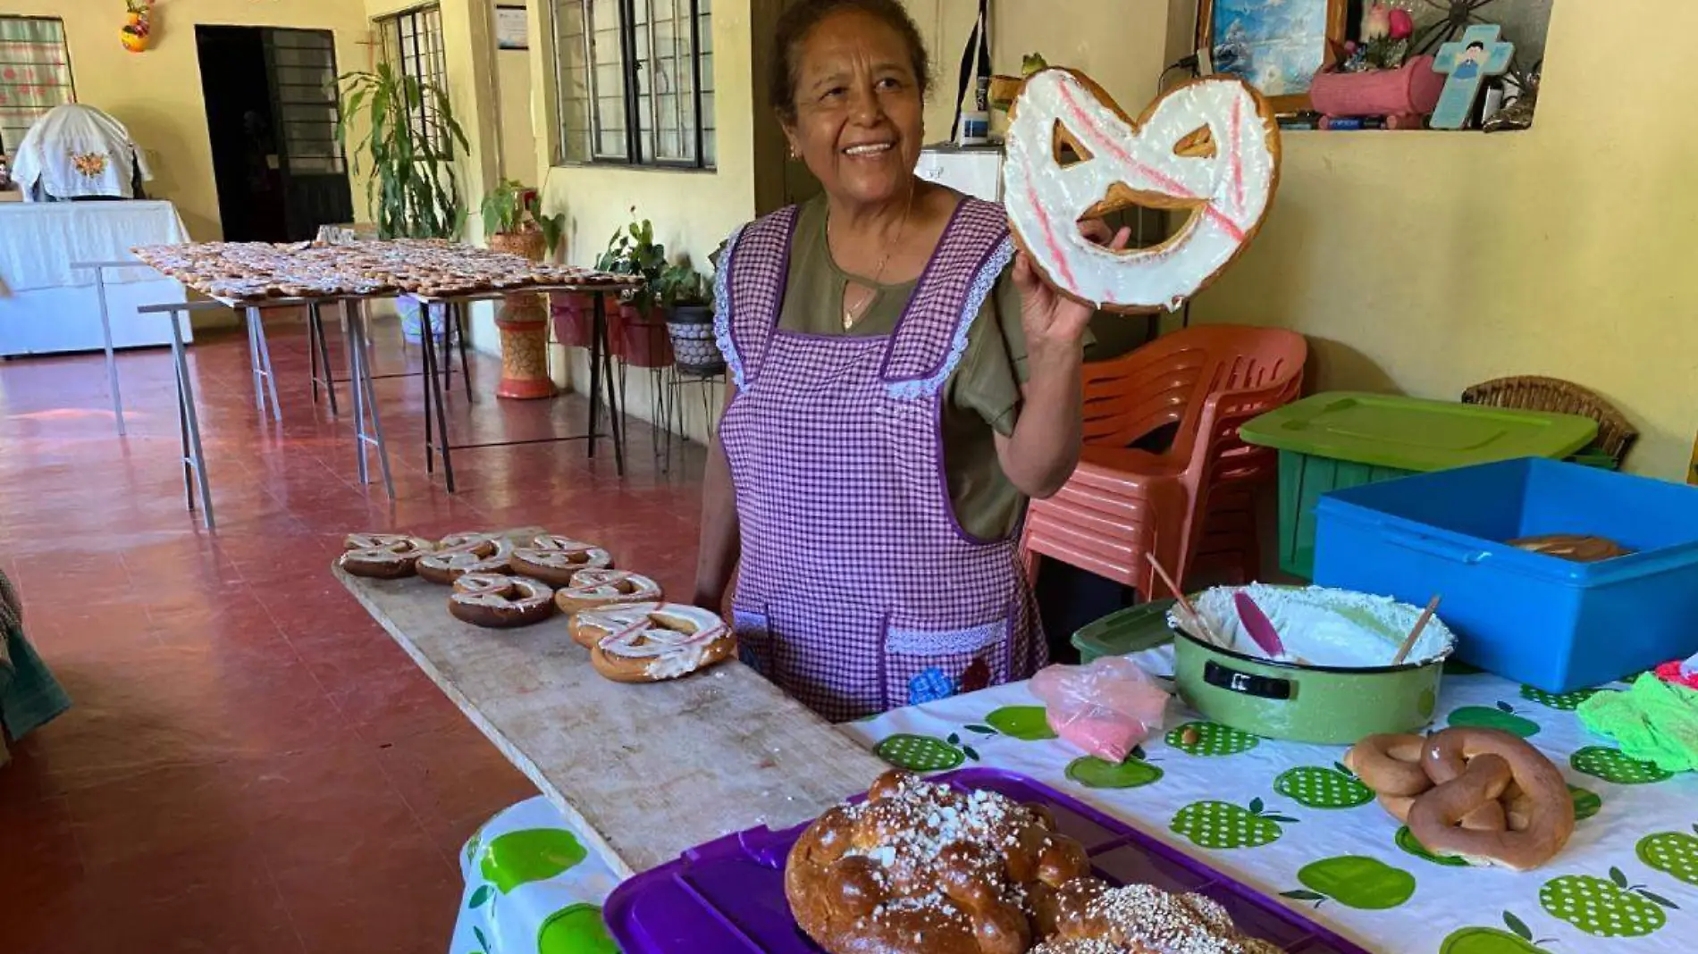
{"label": "green storage bin with lime lid behind the blue plastic tub", "polygon": [[1494,460],[1562,460],[1598,436],[1577,414],[1482,407],[1391,394],[1330,392],[1270,411],[1240,431],[1279,450],[1279,565],[1311,579],[1323,494]]}

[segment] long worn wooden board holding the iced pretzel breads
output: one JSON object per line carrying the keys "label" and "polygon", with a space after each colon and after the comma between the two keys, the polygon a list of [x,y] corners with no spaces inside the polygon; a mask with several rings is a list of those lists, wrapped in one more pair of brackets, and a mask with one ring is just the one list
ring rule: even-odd
{"label": "long worn wooden board holding the iced pretzel breads", "polygon": [[625,876],[732,832],[813,818],[886,767],[740,664],[610,682],[564,616],[481,630],[448,614],[445,587],[333,572]]}

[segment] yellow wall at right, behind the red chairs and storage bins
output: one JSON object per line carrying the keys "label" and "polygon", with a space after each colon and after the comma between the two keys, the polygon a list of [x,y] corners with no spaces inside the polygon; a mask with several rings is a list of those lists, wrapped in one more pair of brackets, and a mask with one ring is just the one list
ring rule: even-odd
{"label": "yellow wall at right, behind the red chairs and storage bins", "polygon": [[1557,3],[1528,132],[1292,132],[1280,195],[1204,321],[1282,324],[1323,389],[1455,397],[1510,373],[1584,384],[1679,479],[1698,429],[1698,73],[1622,56],[1698,8]]}

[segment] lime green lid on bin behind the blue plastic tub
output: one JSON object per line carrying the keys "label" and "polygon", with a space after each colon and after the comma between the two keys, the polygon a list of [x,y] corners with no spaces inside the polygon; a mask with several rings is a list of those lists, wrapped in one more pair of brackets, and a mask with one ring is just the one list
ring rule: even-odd
{"label": "lime green lid on bin behind the blue plastic tub", "polygon": [[1245,424],[1240,436],[1253,445],[1331,460],[1430,472],[1521,457],[1560,460],[1598,436],[1598,421],[1391,394],[1330,392],[1270,411]]}

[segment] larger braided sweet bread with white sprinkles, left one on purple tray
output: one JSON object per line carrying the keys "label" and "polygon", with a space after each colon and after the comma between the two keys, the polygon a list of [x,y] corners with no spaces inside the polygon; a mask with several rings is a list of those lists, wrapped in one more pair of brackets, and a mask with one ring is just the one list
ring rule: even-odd
{"label": "larger braided sweet bread with white sprinkles, left one on purple tray", "polygon": [[1058,889],[1088,876],[1044,808],[893,771],[803,832],[784,895],[830,954],[1024,954]]}

